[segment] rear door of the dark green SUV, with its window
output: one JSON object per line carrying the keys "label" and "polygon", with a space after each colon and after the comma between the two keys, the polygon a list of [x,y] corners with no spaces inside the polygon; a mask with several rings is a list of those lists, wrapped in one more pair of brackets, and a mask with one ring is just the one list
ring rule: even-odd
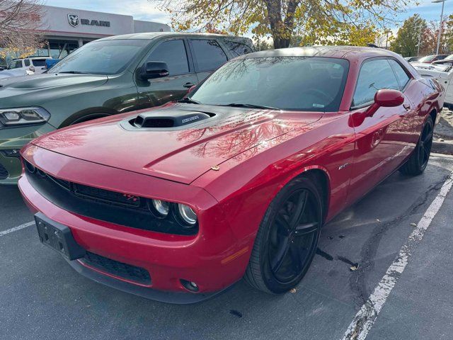
{"label": "rear door of the dark green SUV, with its window", "polygon": [[214,39],[190,38],[189,42],[199,81],[203,81],[228,60],[219,42]]}

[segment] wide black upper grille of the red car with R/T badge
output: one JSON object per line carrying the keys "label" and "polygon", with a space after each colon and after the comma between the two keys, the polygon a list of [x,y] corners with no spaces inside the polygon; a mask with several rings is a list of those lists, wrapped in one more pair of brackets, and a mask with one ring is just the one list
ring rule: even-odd
{"label": "wide black upper grille of the red car with R/T badge", "polygon": [[47,200],[69,212],[96,220],[166,234],[194,235],[198,227],[181,227],[173,214],[161,219],[149,209],[150,200],[128,193],[57,179],[25,161],[25,176]]}

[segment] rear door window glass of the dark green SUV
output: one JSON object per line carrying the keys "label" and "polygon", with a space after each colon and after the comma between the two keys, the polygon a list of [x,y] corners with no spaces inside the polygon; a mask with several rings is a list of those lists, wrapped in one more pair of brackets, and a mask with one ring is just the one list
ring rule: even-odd
{"label": "rear door window glass of the dark green SUV", "polygon": [[215,40],[193,39],[193,54],[197,60],[198,70],[212,71],[226,62],[226,55]]}

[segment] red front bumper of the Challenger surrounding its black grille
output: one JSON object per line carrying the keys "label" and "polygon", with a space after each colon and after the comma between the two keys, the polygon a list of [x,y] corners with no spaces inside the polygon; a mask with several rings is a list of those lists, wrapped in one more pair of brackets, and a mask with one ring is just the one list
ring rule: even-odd
{"label": "red front bumper of the Challenger surrounding its black grille", "polygon": [[[22,176],[18,185],[30,210],[42,212],[51,220],[69,227],[77,244],[86,251],[145,268],[151,276],[151,284],[134,283],[91,268],[79,260],[69,261],[79,273],[113,288],[172,303],[205,300],[225,290],[243,276],[250,246],[234,237],[225,222],[223,212],[219,211],[217,201],[206,191],[71,159],[36,147],[33,149],[38,152],[33,152],[31,157],[25,149],[25,159],[40,168],[42,164],[48,165],[45,169],[52,176],[74,181],[74,178],[70,178],[71,172],[77,169],[79,174],[85,174],[83,179],[88,185],[93,185],[91,181],[97,180],[98,186],[105,188],[105,181],[117,181],[110,185],[118,191],[144,196],[146,191],[151,190],[152,193],[148,192],[149,196],[164,200],[174,200],[175,196],[179,196],[181,203],[189,203],[190,199],[190,203],[199,209],[200,229],[198,234],[193,236],[135,229],[63,210],[41,196],[30,184],[27,176]],[[58,171],[55,171],[56,167]],[[195,282],[199,288],[198,292],[193,293],[184,288],[181,279]]]}

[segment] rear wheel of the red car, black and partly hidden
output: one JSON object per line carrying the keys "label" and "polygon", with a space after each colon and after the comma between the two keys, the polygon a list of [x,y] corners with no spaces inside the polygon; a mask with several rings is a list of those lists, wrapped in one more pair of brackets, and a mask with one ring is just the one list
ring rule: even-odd
{"label": "rear wheel of the red car, black and partly hidden", "polygon": [[425,124],[423,125],[420,139],[418,140],[417,145],[415,145],[415,149],[413,150],[411,157],[409,157],[407,162],[399,169],[401,174],[408,176],[418,176],[423,174],[423,171],[425,171],[426,166],[428,166],[428,161],[430,160],[432,131],[432,118],[431,116],[428,116]]}

